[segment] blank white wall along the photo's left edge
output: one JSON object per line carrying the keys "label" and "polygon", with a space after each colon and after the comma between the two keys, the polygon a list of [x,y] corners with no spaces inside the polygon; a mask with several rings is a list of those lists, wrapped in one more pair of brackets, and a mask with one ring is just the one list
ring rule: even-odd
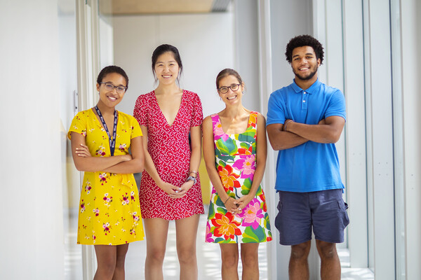
{"label": "blank white wall along the photo's left edge", "polygon": [[1,1],[0,279],[63,279],[57,1]]}

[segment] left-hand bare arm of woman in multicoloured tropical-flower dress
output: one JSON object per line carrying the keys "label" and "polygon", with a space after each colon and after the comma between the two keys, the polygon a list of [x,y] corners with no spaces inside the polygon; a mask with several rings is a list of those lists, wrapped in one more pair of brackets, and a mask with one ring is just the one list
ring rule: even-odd
{"label": "left-hand bare arm of woman in multicoloured tropical-flower dress", "polygon": [[205,160],[210,182],[222,202],[225,203],[225,208],[231,213],[238,211],[236,200],[234,198],[229,198],[229,195],[225,192],[221,178],[215,167],[215,144],[213,143],[213,127],[210,116],[203,120],[203,158]]}

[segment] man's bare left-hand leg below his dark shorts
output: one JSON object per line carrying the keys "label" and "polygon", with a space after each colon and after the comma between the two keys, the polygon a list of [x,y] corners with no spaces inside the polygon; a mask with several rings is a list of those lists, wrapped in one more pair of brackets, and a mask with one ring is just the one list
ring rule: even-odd
{"label": "man's bare left-hand leg below his dark shorts", "polygon": [[290,280],[309,279],[309,263],[307,262],[307,258],[309,256],[310,246],[310,240],[291,246],[291,256],[289,263]]}

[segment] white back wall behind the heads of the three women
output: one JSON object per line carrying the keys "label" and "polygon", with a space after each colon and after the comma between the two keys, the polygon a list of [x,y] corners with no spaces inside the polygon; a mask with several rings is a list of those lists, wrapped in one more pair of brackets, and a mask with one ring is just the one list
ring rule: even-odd
{"label": "white back wall behind the heads of the three women", "polygon": [[152,52],[161,43],[169,43],[181,55],[180,85],[199,94],[203,116],[222,110],[215,78],[222,69],[234,66],[233,21],[232,13],[115,17],[114,63],[129,78],[119,109],[133,113],[138,96],[155,89]]}

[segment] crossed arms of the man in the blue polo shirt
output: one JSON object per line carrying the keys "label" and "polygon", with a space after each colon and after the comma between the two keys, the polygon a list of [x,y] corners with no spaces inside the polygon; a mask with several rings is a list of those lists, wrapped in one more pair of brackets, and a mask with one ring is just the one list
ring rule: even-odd
{"label": "crossed arms of the man in the blue polo shirt", "polygon": [[[286,125],[286,130],[283,130]],[[331,144],[339,140],[345,125],[345,119],[340,116],[330,116],[317,125],[306,125],[286,120],[284,124],[267,125],[269,142],[275,151],[294,148],[307,141]]]}

